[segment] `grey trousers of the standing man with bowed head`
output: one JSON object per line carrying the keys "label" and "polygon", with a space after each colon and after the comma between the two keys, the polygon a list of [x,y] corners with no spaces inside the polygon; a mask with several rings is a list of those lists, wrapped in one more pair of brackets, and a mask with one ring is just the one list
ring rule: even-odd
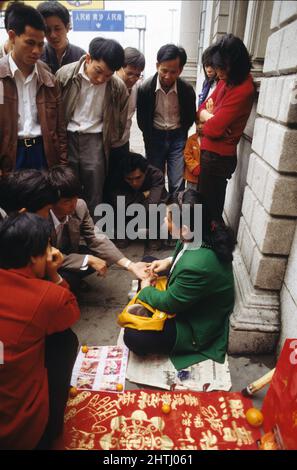
{"label": "grey trousers of the standing man with bowed head", "polygon": [[79,176],[82,197],[94,217],[97,204],[102,202],[106,177],[102,133],[67,132],[68,161]]}

